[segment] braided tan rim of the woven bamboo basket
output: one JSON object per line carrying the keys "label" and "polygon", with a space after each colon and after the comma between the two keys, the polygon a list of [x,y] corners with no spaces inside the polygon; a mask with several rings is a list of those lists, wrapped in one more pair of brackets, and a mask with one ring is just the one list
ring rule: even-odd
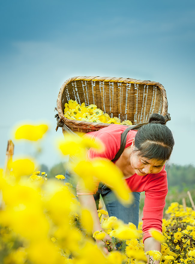
{"label": "braided tan rim of the woven bamboo basket", "polygon": [[163,97],[163,105],[162,105],[162,113],[161,115],[165,116],[167,114],[167,108],[168,108],[168,102],[167,102],[167,94],[166,90],[164,89],[164,86],[161,83],[155,82],[155,81],[149,81],[149,80],[137,80],[132,78],[122,78],[122,77],[101,77],[101,76],[75,76],[70,77],[67,79],[60,87],[58,98],[57,98],[57,111],[59,118],[70,127],[71,126],[75,128],[75,126],[79,126],[83,129],[91,129],[91,130],[98,130],[103,127],[110,126],[109,123],[94,123],[94,122],[87,122],[87,121],[79,121],[79,120],[72,120],[64,117],[64,113],[62,111],[62,105],[61,105],[61,97],[64,92],[65,87],[68,83],[76,80],[85,80],[85,81],[102,81],[102,82],[120,82],[120,83],[136,83],[136,84],[146,84],[146,85],[155,85],[161,90],[161,94]]}

